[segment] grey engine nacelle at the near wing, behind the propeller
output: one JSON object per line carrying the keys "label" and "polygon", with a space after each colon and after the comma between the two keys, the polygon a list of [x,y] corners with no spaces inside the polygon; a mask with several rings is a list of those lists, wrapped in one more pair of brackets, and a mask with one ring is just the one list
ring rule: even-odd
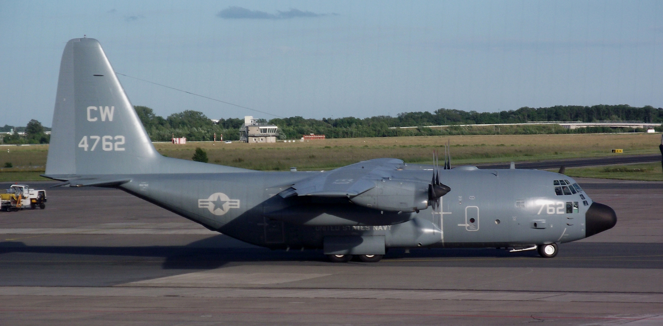
{"label": "grey engine nacelle at the near wing, behind the propeller", "polygon": [[368,208],[392,212],[415,212],[428,207],[428,183],[403,179],[382,179],[375,188],[350,199]]}

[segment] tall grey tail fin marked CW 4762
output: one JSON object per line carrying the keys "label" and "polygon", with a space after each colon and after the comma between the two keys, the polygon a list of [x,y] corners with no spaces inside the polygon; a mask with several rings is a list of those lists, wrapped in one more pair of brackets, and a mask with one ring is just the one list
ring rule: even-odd
{"label": "tall grey tail fin marked CW 4762", "polygon": [[101,44],[67,42],[46,160],[46,175],[249,171],[160,155],[125,94]]}

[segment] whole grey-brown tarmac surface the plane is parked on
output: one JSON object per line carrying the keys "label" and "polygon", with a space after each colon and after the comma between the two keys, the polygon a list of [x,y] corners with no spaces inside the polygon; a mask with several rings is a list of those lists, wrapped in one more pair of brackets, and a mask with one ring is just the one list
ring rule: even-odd
{"label": "whole grey-brown tarmac surface the plane is parked on", "polygon": [[576,180],[618,222],[556,258],[373,264],[245,244],[115,189],[47,189],[44,210],[0,212],[0,324],[663,325],[663,182]]}

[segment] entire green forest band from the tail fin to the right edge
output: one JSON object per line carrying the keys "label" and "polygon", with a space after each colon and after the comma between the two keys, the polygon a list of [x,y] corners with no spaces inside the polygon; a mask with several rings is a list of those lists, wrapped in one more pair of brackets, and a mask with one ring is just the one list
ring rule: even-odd
{"label": "entire green forest band from the tail fin to the right edge", "polygon": [[[223,134],[224,140],[238,140],[239,127],[243,118],[221,119],[213,123],[202,112],[186,110],[171,114],[167,118],[156,116],[151,108],[135,106],[138,116],[152,141],[170,141],[175,137],[186,137],[190,141],[213,140]],[[462,110],[440,109],[435,112],[405,112],[398,116],[375,116],[371,118],[323,118],[304,119],[296,116],[269,120],[278,126],[280,138],[299,139],[309,133],[324,134],[328,138],[348,137],[392,137],[409,135],[468,135],[468,134],[530,134],[530,133],[599,133],[629,132],[631,128],[589,127],[564,129],[559,125],[524,125],[518,127],[478,128],[454,126],[446,129],[431,129],[426,125],[462,125],[483,123],[523,123],[542,121],[642,121],[663,123],[663,108],[644,106],[635,108],[628,105],[597,106],[553,106],[550,108],[520,108],[502,112],[465,112]],[[266,120],[262,120],[267,122]],[[410,127],[410,129],[389,129],[389,127]],[[662,131],[661,127],[657,128]],[[635,130],[644,131],[644,130]]]}

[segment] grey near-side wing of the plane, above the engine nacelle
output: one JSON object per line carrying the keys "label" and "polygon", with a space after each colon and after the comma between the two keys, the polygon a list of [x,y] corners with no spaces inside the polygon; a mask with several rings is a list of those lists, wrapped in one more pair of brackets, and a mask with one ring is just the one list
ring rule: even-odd
{"label": "grey near-side wing of the plane, above the engine nacelle", "polygon": [[376,187],[377,181],[389,178],[392,171],[401,169],[400,159],[371,159],[345,167],[339,167],[329,173],[307,179],[282,191],[283,198],[297,196],[315,197],[353,197]]}

